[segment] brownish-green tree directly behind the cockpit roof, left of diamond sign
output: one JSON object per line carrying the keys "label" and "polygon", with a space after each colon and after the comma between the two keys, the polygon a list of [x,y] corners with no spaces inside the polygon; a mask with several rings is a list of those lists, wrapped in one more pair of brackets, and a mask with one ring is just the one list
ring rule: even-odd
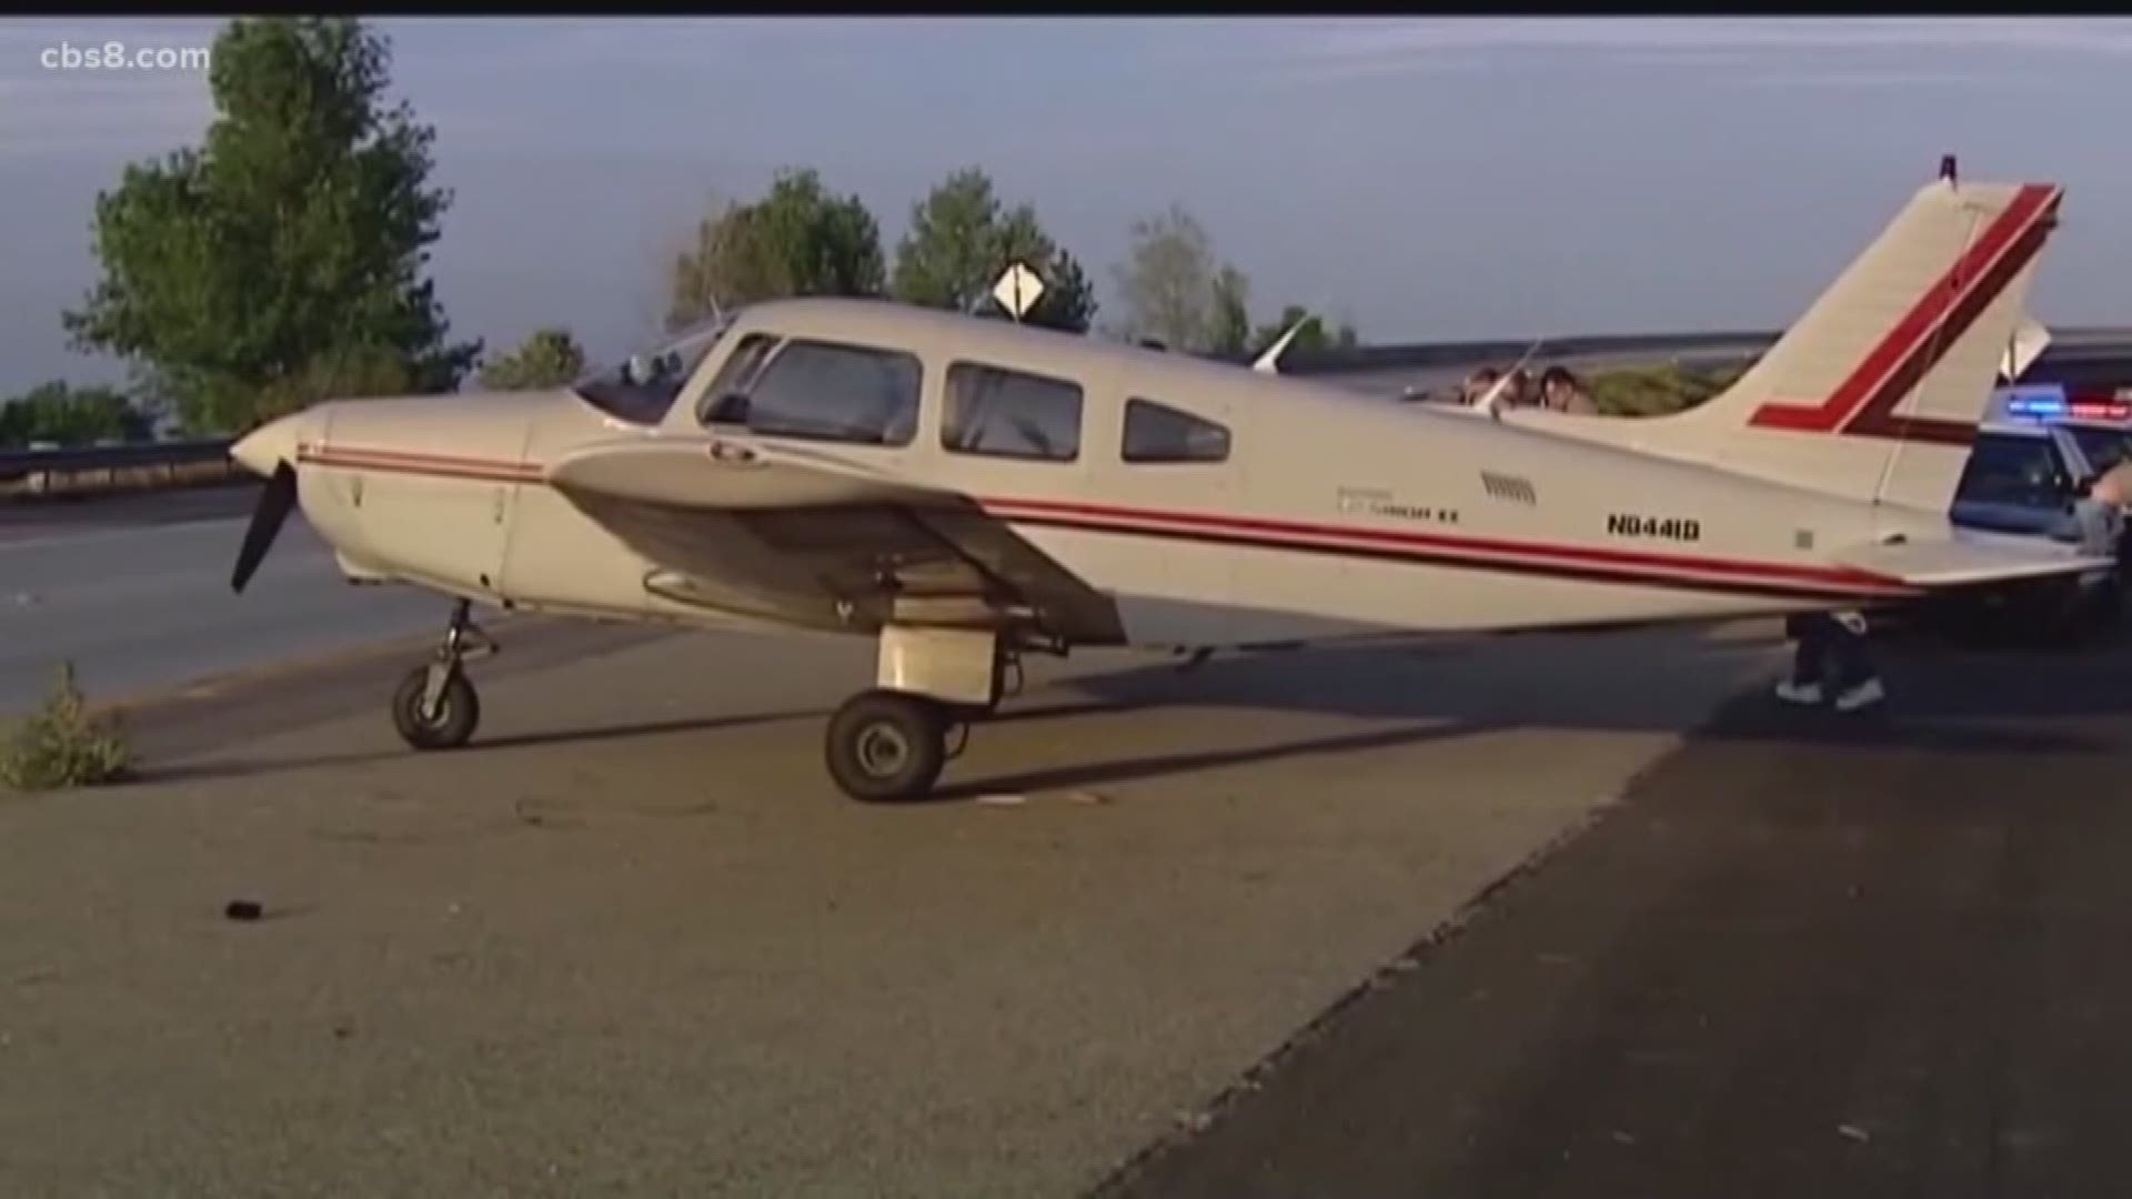
{"label": "brownish-green tree directly behind the cockpit roof, left of diamond sign", "polygon": [[778,297],[878,297],[881,228],[859,196],[831,196],[812,169],[778,171],[770,192],[706,215],[674,260],[667,329]]}

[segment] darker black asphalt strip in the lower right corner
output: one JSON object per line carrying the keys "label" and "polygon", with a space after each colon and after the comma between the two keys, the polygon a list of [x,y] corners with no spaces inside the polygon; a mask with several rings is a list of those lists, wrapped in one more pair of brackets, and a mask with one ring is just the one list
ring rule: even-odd
{"label": "darker black asphalt strip in the lower right corner", "polygon": [[2123,1195],[2132,653],[1729,704],[1104,1195]]}

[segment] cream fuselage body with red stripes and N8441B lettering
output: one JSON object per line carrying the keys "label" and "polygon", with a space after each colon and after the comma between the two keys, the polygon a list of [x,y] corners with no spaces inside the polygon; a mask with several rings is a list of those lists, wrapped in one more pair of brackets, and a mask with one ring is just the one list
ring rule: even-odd
{"label": "cream fuselage body with red stripes and N8441B lettering", "polygon": [[[1825,550],[1891,527],[1944,533],[1923,512],[1258,375],[1220,393],[1179,384],[1179,403],[1232,429],[1228,461],[1126,463],[1124,395],[1081,382],[1089,403],[1070,463],[942,450],[934,388],[904,448],[808,448],[974,497],[1107,593],[1132,644],[1872,604],[1902,589]],[[301,501],[354,576],[524,610],[731,625],[744,602],[718,610],[648,591],[655,563],[542,480],[548,461],[618,433],[704,435],[687,395],[659,427],[569,393],[320,405],[303,420]],[[755,614],[778,623],[774,606]]]}

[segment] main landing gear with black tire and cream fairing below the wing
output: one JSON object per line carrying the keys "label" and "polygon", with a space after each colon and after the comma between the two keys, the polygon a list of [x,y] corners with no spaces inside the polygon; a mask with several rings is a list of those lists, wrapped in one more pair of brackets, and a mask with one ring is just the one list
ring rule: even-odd
{"label": "main landing gear with black tire and cream fairing below the wing", "polygon": [[[1021,661],[981,629],[881,629],[878,683],[829,717],[823,760],[836,785],[861,802],[932,794],[972,723],[989,717]],[[949,751],[953,734],[955,749]]]}

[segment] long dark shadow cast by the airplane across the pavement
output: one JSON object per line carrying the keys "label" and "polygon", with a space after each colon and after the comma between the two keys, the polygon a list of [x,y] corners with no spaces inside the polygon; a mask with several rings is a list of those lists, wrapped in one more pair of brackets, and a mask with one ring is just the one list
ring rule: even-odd
{"label": "long dark shadow cast by the airplane across the pavement", "polygon": [[[1149,708],[1271,710],[1371,721],[1401,728],[1343,730],[1328,736],[1254,747],[1194,749],[1102,760],[989,779],[957,779],[953,764],[940,800],[1000,789],[1053,789],[1124,783],[1202,768],[1273,762],[1311,753],[1384,749],[1450,740],[1480,732],[1659,732],[1697,740],[1753,740],[1799,747],[1908,749],[1929,753],[2102,753],[2115,740],[2098,730],[2051,728],[2049,721],[2002,723],[1996,717],[2087,717],[2132,710],[2132,646],[2089,646],[2081,653],[2008,653],[1955,649],[1921,640],[1880,646],[1891,700],[1883,713],[1844,717],[1787,708],[1761,696],[1782,668],[1782,638],[1746,636],[1697,642],[1678,632],[1595,632],[1501,638],[1371,640],[1341,646],[1262,651],[1213,657],[1196,668],[1153,661],[1032,685],[994,721],[1055,721],[1066,732],[1077,717],[1119,717]],[[1746,689],[1742,678],[1755,678]],[[1723,715],[1712,721],[1712,710]],[[789,719],[823,719],[825,710],[740,717],[669,719],[480,738],[454,753],[501,753],[522,747],[597,742],[633,736],[727,732]],[[974,736],[983,736],[979,728]],[[1100,745],[1100,742],[1098,742]],[[141,781],[232,779],[271,770],[350,766],[403,757],[386,749],[341,757],[286,762],[211,762],[147,766]]]}

